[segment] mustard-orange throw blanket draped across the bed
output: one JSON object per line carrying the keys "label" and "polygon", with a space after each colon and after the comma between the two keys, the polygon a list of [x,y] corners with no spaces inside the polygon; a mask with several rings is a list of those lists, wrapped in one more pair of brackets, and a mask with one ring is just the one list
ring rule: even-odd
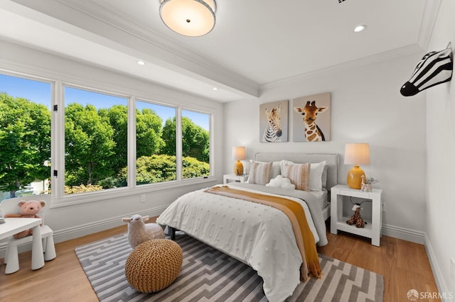
{"label": "mustard-orange throw blanket draped across the bed", "polygon": [[314,236],[306,221],[304,208],[300,203],[279,196],[231,189],[228,186],[213,186],[212,188],[206,189],[205,192],[262,203],[266,206],[277,208],[285,213],[291,221],[297,247],[299,247],[303,260],[300,267],[301,281],[306,281],[309,274],[312,274],[316,278],[321,278],[321,264],[319,263]]}

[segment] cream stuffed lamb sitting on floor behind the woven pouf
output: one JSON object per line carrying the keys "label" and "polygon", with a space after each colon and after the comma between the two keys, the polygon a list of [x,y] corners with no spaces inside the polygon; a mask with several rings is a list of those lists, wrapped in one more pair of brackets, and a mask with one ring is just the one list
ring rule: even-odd
{"label": "cream stuffed lamb sitting on floor behind the woven pouf", "polygon": [[149,216],[133,215],[131,218],[122,218],[124,223],[128,223],[128,241],[134,249],[142,242],[152,239],[164,239],[164,230],[158,223],[145,223]]}

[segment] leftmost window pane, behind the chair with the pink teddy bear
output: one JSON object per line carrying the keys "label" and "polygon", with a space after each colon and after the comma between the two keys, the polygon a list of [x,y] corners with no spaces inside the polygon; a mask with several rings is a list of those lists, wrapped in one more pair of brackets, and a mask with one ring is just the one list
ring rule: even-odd
{"label": "leftmost window pane, behind the chair with the pink teddy bear", "polygon": [[2,199],[48,193],[51,91],[50,83],[0,74]]}

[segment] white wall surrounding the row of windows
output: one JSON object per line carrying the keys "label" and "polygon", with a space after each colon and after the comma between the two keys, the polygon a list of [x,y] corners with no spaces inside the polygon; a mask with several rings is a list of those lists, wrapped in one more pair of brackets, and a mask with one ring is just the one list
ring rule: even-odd
{"label": "white wall surrounding the row of windows", "polygon": [[[46,213],[45,220],[46,224],[53,228],[56,242],[121,225],[120,218],[131,216],[134,213],[159,215],[178,196],[223,181],[222,104],[6,41],[0,40],[0,51],[0,69],[4,71],[23,72],[48,79],[61,79],[107,91],[133,93],[147,99],[166,101],[168,104],[183,104],[191,108],[199,108],[215,115],[213,135],[216,152],[212,155],[215,158],[213,164],[215,179],[157,191],[144,191],[144,189],[139,191],[138,189],[137,191],[130,190],[127,194],[117,191],[117,194],[111,194],[107,198],[98,198],[97,201],[81,202],[73,206],[53,202]],[[146,194],[145,203],[140,203],[140,194]]]}

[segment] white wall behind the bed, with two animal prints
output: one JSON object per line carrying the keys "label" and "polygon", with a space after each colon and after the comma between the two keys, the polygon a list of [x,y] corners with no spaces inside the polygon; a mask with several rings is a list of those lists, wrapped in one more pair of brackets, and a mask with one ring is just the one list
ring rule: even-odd
{"label": "white wall behind the bed, with two animal prints", "polygon": [[[341,155],[339,182],[346,184],[350,166],[343,164],[346,142],[369,142],[371,163],[365,174],[380,179],[386,203],[385,235],[423,243],[425,230],[425,101],[406,98],[400,87],[422,53],[369,65],[338,68],[315,77],[269,85],[259,100],[225,104],[225,172],[231,172],[230,148],[245,145],[255,152],[333,152]],[[259,142],[259,104],[331,92],[331,141]],[[294,111],[289,103],[289,123]],[[321,113],[323,114],[323,113]],[[367,208],[365,206],[365,211]]]}

